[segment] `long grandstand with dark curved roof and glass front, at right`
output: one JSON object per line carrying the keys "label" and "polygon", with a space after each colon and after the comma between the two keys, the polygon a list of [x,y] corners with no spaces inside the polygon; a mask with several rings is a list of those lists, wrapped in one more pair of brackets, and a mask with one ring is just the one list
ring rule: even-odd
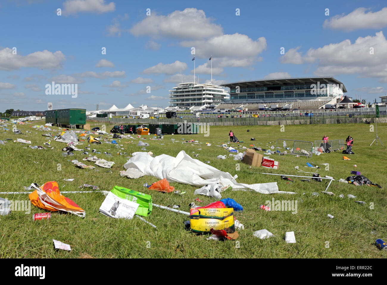
{"label": "long grandstand with dark curved roof and glass front, at right", "polygon": [[[230,88],[230,98],[223,105],[278,104],[300,109],[322,108],[336,104],[347,92],[333,77],[261,79],[222,84]],[[302,107],[302,108],[301,108]]]}

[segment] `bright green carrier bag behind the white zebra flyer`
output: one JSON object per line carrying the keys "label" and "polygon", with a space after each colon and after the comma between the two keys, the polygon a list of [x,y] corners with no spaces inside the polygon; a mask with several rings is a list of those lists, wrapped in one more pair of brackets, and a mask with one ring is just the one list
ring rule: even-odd
{"label": "bright green carrier bag behind the white zebra flyer", "polygon": [[120,197],[121,199],[129,200],[139,204],[136,214],[140,216],[148,216],[152,212],[152,196],[130,190],[124,187],[115,186],[110,192]]}

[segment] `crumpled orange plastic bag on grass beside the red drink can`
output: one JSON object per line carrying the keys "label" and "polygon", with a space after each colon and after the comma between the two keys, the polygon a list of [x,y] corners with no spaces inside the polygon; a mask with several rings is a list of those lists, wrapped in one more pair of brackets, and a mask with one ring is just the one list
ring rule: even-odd
{"label": "crumpled orange plastic bag on grass beside the red drink can", "polygon": [[86,216],[84,209],[59,192],[58,183],[55,181],[46,182],[41,187],[36,188],[28,197],[34,206],[41,209],[70,212],[82,218]]}

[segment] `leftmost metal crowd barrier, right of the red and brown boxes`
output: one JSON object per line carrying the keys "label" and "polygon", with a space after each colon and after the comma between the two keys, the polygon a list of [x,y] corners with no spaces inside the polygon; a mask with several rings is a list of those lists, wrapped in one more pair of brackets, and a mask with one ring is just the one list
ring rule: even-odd
{"label": "leftmost metal crowd barrier, right of the red and brown boxes", "polygon": [[313,143],[303,140],[286,140],[279,138],[276,142],[276,153],[312,157]]}

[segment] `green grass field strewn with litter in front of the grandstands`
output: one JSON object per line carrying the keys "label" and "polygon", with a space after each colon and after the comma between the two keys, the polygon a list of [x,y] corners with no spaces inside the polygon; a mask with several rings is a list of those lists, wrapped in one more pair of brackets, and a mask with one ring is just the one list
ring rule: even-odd
{"label": "green grass field strewn with litter in front of the grandstands", "polygon": [[[23,186],[33,182],[42,185],[46,181],[57,181],[61,191],[77,191],[83,183],[97,185],[100,190],[111,190],[114,185],[123,186],[152,195],[156,204],[168,206],[180,205],[182,211],[189,211],[188,204],[195,198],[194,190],[198,187],[171,183],[176,190],[186,191],[184,195],[173,193],[159,193],[143,187],[144,183],[151,184],[157,179],[152,176],[143,176],[139,179],[130,180],[119,176],[119,171],[124,170],[123,164],[128,160],[127,156],[132,152],[141,151],[137,147],[138,139],[120,140],[128,155],[117,155],[114,145],[103,143],[92,145],[101,154],[99,158],[108,161],[113,160],[115,165],[109,169],[97,167],[96,169],[79,169],[71,162],[71,159],[82,160],[85,155],[74,152],[72,157],[63,157],[61,149],[65,143],[51,140],[54,149],[37,150],[28,145],[14,143],[13,140],[23,138],[31,140],[32,146],[43,145],[48,141],[47,137],[41,136],[43,131],[38,131],[31,126],[44,124],[43,121],[33,124],[18,125],[17,127],[26,135],[15,135],[12,131],[0,129],[0,140],[12,138],[5,145],[0,145],[0,192],[24,191]],[[9,125],[10,126],[10,125]],[[57,127],[53,127],[58,130]],[[107,126],[106,130],[110,130]],[[0,216],[0,257],[2,258],[77,258],[91,256],[94,258],[124,258],[124,257],[264,257],[264,258],[378,258],[386,257],[387,252],[377,249],[375,240],[377,238],[387,239],[387,195],[386,195],[386,147],[375,143],[369,144],[375,138],[375,133],[370,132],[368,124],[334,124],[334,125],[301,125],[285,126],[284,132],[279,126],[240,126],[231,128],[240,141],[241,146],[249,147],[253,143],[256,147],[268,148],[275,145],[277,138],[288,138],[298,140],[320,140],[323,135],[328,135],[330,140],[344,139],[351,135],[354,138],[354,155],[347,155],[350,161],[342,159],[341,152],[330,154],[313,155],[312,158],[295,157],[293,155],[271,155],[279,161],[278,170],[266,168],[250,168],[240,163],[240,170],[236,171],[236,163],[231,157],[225,160],[216,159],[217,155],[228,155],[228,152],[219,147],[221,143],[228,142],[229,127],[210,127],[209,136],[197,135],[165,135],[163,140],[149,140],[147,151],[154,155],[169,154],[176,156],[184,150],[188,155],[199,154],[200,161],[210,161],[211,165],[219,170],[238,174],[237,181],[241,183],[265,183],[277,182],[280,191],[297,192],[291,194],[265,195],[250,191],[227,190],[222,192],[222,198],[232,198],[241,204],[243,212],[235,212],[244,226],[239,231],[236,241],[213,241],[206,240],[206,235],[195,235],[185,230],[183,224],[188,216],[177,214],[167,210],[154,207],[152,213],[146,218],[152,224],[158,226],[155,230],[137,218],[131,220],[113,219],[99,213],[104,195],[101,193],[64,194],[74,200],[86,211],[86,218],[66,213],[52,212],[51,219],[46,221],[33,221],[32,214],[45,212],[43,209],[31,206],[31,214],[21,211],[12,212],[9,216]],[[250,132],[247,132],[250,129]],[[12,130],[12,126],[11,126]],[[31,131],[32,133],[26,133]],[[378,124],[378,135],[382,142],[387,144],[387,124]],[[106,135],[105,137],[111,137]],[[148,136],[152,138],[152,136]],[[254,137],[255,142],[250,138]],[[171,138],[175,138],[172,143]],[[184,140],[182,140],[184,138]],[[185,140],[198,140],[200,145],[181,143]],[[212,143],[210,147],[206,142]],[[161,145],[163,143],[164,145]],[[83,142],[79,148],[87,146]],[[238,147],[237,143],[231,146]],[[198,149],[202,150],[198,150]],[[241,150],[241,149],[240,149]],[[110,152],[113,157],[109,158],[103,152]],[[263,152],[260,152],[263,153]],[[259,172],[272,172],[279,174],[298,173],[295,166],[303,171],[315,172],[317,169],[306,168],[306,162],[318,164],[321,176],[333,176],[333,181],[328,191],[334,192],[335,196],[321,193],[327,186],[327,180],[323,182],[311,181],[301,182],[295,178],[294,183],[287,184],[279,176],[258,174]],[[88,165],[91,162],[86,162]],[[329,163],[329,171],[325,171],[322,163]],[[61,164],[58,171],[57,164]],[[357,164],[357,168],[353,165]],[[383,188],[368,187],[366,185],[356,187],[354,185],[337,182],[340,178],[350,176],[351,170],[360,171],[373,183]],[[311,176],[312,174],[306,174]],[[63,179],[75,178],[72,182]],[[319,196],[312,196],[312,192],[319,192]],[[305,193],[305,195],[303,195]],[[340,194],[345,198],[339,198]],[[349,199],[347,194],[357,196]],[[26,200],[27,195],[1,195],[9,200]],[[263,211],[259,209],[260,204],[266,200],[298,200],[296,214],[291,211]],[[200,195],[203,203],[195,202],[205,206],[216,201],[215,198]],[[302,202],[301,202],[302,200]],[[366,205],[353,202],[354,200],[365,201]],[[373,203],[373,209],[370,209]],[[329,219],[327,214],[332,214],[334,219]],[[267,229],[275,237],[260,240],[253,237],[253,232]],[[294,231],[296,244],[286,244],[284,236],[286,231]],[[376,231],[377,234],[371,233]],[[55,251],[52,239],[60,240],[70,244],[72,250]],[[327,243],[328,242],[328,243]],[[329,245],[329,247],[328,247]],[[150,246],[150,247],[149,247]]]}

